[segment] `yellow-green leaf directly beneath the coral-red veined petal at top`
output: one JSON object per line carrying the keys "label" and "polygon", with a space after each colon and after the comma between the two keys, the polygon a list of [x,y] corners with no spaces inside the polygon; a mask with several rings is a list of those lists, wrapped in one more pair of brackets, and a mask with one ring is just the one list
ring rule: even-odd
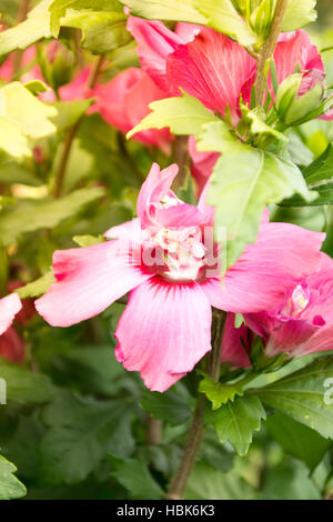
{"label": "yellow-green leaf directly beneath the coral-red veined petal at top", "polygon": [[152,110],[128,134],[131,138],[142,130],[169,127],[174,134],[199,134],[202,126],[219,122],[196,98],[183,93],[182,98],[167,98],[149,104]]}

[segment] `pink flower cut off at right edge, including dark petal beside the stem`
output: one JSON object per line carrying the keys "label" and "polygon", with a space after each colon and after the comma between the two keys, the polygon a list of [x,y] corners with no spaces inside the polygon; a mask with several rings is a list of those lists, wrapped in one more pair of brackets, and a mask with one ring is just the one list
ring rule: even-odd
{"label": "pink flower cut off at right edge, including dark petal beside the stem", "polygon": [[234,367],[251,365],[255,334],[263,339],[268,357],[333,350],[333,260],[322,253],[317,271],[286,282],[274,307],[244,319],[246,327],[240,329],[234,328],[234,314],[226,319],[221,360]]}

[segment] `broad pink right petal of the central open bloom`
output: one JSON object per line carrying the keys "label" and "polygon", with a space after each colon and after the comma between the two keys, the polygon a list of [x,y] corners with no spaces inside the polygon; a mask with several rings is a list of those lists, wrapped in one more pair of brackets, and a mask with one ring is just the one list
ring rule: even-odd
{"label": "broad pink right petal of the central open bloom", "polygon": [[246,247],[223,281],[212,278],[202,287],[212,305],[222,310],[274,309],[286,289],[319,270],[324,238],[290,223],[262,224],[256,242]]}

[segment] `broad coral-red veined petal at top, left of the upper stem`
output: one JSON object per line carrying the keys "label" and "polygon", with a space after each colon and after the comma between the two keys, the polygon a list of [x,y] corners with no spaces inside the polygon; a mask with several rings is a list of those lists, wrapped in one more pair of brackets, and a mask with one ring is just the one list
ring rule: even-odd
{"label": "broad coral-red veined petal at top, left of the upper stem", "polygon": [[173,90],[181,87],[213,111],[224,114],[226,104],[238,118],[242,86],[251,77],[255,60],[225,34],[204,28],[167,59],[167,73]]}

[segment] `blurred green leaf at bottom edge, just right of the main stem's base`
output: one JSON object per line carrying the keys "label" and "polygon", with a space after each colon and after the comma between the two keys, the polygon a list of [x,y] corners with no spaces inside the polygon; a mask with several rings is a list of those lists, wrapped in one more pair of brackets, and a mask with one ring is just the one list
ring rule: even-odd
{"label": "blurred green leaf at bottom edge, just right of the main stem's base", "polygon": [[223,473],[204,462],[198,462],[189,479],[184,499],[254,500],[258,493],[236,472]]}

